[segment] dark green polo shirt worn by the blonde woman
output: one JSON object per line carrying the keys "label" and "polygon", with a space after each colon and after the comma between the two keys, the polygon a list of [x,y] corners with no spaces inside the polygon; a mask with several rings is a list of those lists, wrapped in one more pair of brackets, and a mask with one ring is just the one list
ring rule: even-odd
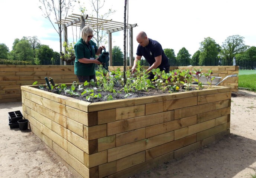
{"label": "dark green polo shirt worn by the blonde woman", "polygon": [[90,57],[95,58],[95,53],[97,52],[97,44],[94,43],[92,40],[90,40],[89,45],[87,45],[82,38],[76,42],[74,46],[74,50],[76,53],[76,60],[74,64],[74,72],[75,75],[78,76],[90,76],[95,75],[95,63],[81,63],[78,61],[78,59],[81,58],[87,58],[90,59]]}

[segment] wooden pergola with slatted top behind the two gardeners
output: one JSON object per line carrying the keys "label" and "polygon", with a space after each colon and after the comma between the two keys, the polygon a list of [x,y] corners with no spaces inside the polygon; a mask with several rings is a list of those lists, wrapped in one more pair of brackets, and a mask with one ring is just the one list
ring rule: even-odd
{"label": "wooden pergola with slatted top behind the two gardeners", "polygon": [[[62,24],[64,26],[64,42],[67,42],[67,27],[68,26],[79,26],[80,29],[83,29],[84,26],[89,25],[93,29],[100,29],[107,31],[108,34],[108,47],[109,47],[109,66],[112,66],[112,33],[124,30],[124,23],[115,22],[112,19],[98,19],[95,17],[89,17],[88,15],[79,15],[72,14],[66,17],[64,20],[57,22],[58,24]],[[135,24],[127,24],[126,28],[129,29],[129,63],[132,64],[133,59],[133,27],[136,27]],[[65,53],[65,48],[64,48]],[[126,55],[126,54],[124,54]]]}

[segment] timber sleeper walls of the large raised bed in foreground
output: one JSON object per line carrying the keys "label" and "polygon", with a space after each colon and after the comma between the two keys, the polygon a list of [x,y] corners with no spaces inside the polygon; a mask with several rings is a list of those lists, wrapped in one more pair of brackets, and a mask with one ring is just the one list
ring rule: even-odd
{"label": "timber sleeper walls of the large raised bed in foreground", "polygon": [[230,129],[231,88],[90,103],[21,86],[32,131],[81,177],[128,177]]}

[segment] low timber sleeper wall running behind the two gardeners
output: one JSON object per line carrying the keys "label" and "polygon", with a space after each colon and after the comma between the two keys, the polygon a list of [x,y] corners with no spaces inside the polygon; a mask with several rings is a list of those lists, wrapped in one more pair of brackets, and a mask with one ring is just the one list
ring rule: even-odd
{"label": "low timber sleeper wall running behind the two gardeners", "polygon": [[[123,70],[124,67],[109,66],[109,70],[116,68]],[[220,76],[222,79],[227,75],[237,74],[237,77],[228,78],[220,83],[220,86],[229,86],[232,92],[238,91],[238,66],[170,66],[170,70],[177,68],[181,70],[202,68],[203,72],[212,69],[213,75]],[[74,75],[74,66],[0,65],[0,103],[20,101],[20,86],[32,85],[35,81],[45,84],[45,77],[52,77],[55,83],[72,83],[78,80]]]}

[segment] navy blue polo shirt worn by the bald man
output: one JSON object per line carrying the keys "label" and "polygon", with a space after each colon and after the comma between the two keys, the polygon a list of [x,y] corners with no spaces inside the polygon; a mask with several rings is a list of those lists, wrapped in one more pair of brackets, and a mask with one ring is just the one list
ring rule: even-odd
{"label": "navy blue polo shirt worn by the bald man", "polygon": [[167,56],[164,54],[164,50],[159,42],[156,40],[148,39],[149,43],[147,46],[143,47],[140,44],[137,47],[137,56],[144,56],[150,66],[156,62],[155,57],[162,56],[161,64],[157,67],[160,70],[164,70],[163,68],[169,68],[169,60]]}

